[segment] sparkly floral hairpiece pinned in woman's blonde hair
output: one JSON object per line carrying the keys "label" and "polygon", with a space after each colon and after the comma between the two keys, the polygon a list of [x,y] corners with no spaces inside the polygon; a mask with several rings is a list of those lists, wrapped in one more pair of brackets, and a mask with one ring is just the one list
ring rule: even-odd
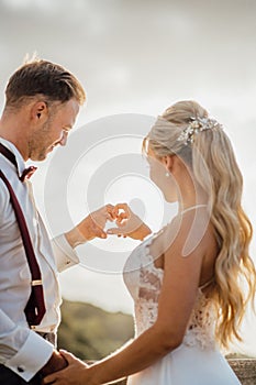
{"label": "sparkly floral hairpiece pinned in woman's blonde hair", "polygon": [[222,125],[214,119],[210,118],[190,118],[191,123],[181,132],[178,138],[179,142],[185,142],[185,145],[193,143],[194,135],[205,130],[213,130]]}

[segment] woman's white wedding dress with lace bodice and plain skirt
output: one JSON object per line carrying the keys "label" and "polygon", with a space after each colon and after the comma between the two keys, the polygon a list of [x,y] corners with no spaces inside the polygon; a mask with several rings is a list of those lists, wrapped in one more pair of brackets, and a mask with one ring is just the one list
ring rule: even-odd
{"label": "woman's white wedding dress with lace bodice and plain skirt", "polygon": [[[124,282],[135,306],[135,336],[157,318],[164,271],[155,267],[149,245],[158,234],[144,241],[130,255]],[[204,285],[205,286],[205,285]],[[175,315],[174,315],[175,317]],[[182,344],[146,370],[129,377],[129,385],[238,385],[241,384],[214,341],[214,309],[198,289]]]}

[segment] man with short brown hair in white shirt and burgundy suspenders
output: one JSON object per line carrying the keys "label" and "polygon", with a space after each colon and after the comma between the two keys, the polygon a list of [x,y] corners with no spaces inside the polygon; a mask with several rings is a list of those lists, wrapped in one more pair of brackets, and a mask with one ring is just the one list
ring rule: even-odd
{"label": "man with short brown hair in white shirt and burgundy suspenders", "polygon": [[[62,370],[56,350],[60,296],[57,271],[79,262],[74,248],[105,238],[111,206],[88,216],[53,241],[36,210],[29,177],[56,146],[65,146],[85,91],[59,65],[33,59],[5,89],[0,120],[0,378],[1,384],[37,385]],[[60,193],[62,194],[62,193]]]}

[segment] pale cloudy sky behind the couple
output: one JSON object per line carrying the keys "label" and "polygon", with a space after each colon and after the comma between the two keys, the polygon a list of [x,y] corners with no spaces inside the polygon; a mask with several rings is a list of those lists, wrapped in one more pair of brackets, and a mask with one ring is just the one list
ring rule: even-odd
{"label": "pale cloudy sky behind the couple", "polygon": [[[10,75],[34,52],[71,70],[87,92],[67,148],[33,177],[52,235],[109,201],[130,202],[154,231],[175,213],[148,179],[141,143],[181,99],[224,125],[255,227],[255,14],[254,0],[0,0],[0,107]],[[64,297],[132,312],[121,271],[135,245],[112,238],[78,248],[81,265],[62,274]],[[251,253],[256,261],[255,238]]]}

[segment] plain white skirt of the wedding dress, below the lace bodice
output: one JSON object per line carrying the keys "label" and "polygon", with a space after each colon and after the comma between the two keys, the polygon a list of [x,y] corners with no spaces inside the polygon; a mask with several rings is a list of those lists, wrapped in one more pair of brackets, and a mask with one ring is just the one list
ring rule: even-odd
{"label": "plain white skirt of the wedding dress, below the lace bodice", "polygon": [[241,385],[218,350],[181,344],[146,370],[129,377],[129,385]]}

